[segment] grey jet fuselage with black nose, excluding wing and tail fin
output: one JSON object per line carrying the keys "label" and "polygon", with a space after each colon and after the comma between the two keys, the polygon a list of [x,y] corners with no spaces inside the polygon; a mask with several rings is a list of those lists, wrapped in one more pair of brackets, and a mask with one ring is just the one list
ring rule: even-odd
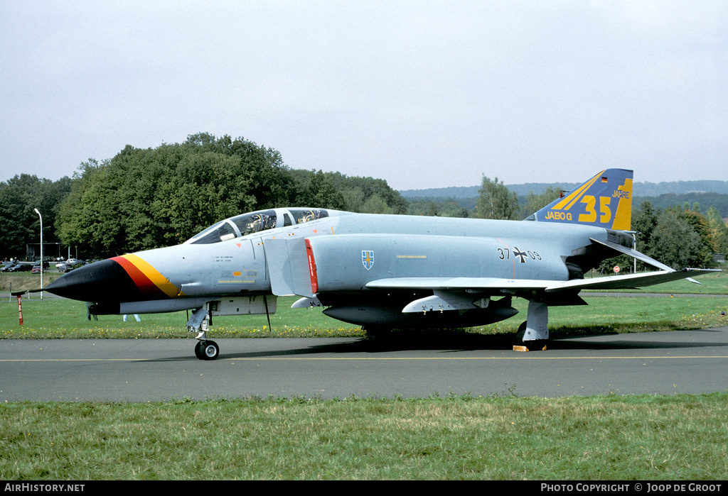
{"label": "grey jet fuselage with black nose, excluding wing and tail fin", "polygon": [[[98,313],[144,313],[197,308],[221,296],[366,293],[367,282],[392,277],[569,280],[576,276],[567,259],[590,237],[609,233],[536,221],[276,208],[226,219],[181,245],[81,267],[46,290],[97,304]],[[287,253],[304,259],[306,247],[312,287],[277,282],[294,263]]]}

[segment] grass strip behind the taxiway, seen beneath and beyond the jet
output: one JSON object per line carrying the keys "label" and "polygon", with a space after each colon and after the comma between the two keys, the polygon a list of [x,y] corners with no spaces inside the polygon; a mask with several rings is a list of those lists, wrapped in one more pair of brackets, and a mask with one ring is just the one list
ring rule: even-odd
{"label": "grass strip behind the taxiway, seen beneath and beyond the jet", "polygon": [[[703,285],[687,281],[673,282],[665,297],[610,297],[582,293],[588,306],[553,306],[549,310],[551,335],[575,336],[600,333],[649,332],[655,330],[695,329],[728,325],[728,276],[703,277]],[[681,296],[680,290],[707,289],[705,294],[725,297]],[[669,296],[673,293],[674,296]],[[321,309],[291,309],[296,297],[279,298],[277,312],[265,315],[216,317],[210,336],[220,338],[258,337],[351,337],[364,336],[357,325],[326,317]],[[498,334],[515,333],[526,319],[528,302],[514,298],[519,314],[509,320],[470,328],[464,332]],[[45,298],[38,293],[23,299],[23,325],[19,325],[17,299],[8,297],[0,303],[0,338],[184,338],[186,312],[142,315],[142,322],[130,318],[122,322],[119,315],[100,315],[89,321],[86,306],[79,301]]]}

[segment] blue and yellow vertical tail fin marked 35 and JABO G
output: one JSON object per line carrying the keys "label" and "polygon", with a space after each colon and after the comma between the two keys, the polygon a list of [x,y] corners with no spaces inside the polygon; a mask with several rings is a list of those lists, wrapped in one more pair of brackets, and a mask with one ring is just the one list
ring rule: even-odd
{"label": "blue and yellow vertical tail fin marked 35 and JABO G", "polygon": [[601,171],[527,220],[629,231],[632,226],[632,171],[622,168]]}

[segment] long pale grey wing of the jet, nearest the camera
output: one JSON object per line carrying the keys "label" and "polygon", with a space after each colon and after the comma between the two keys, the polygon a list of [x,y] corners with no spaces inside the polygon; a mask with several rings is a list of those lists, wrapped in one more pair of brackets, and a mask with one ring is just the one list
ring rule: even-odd
{"label": "long pale grey wing of the jet, nearest the camera", "polygon": [[715,269],[660,270],[641,274],[596,277],[593,279],[529,280],[502,279],[498,277],[396,277],[368,282],[370,289],[389,290],[440,290],[515,293],[523,290],[542,290],[553,293],[582,289],[637,289],[674,280],[687,279],[693,275],[720,272]]}

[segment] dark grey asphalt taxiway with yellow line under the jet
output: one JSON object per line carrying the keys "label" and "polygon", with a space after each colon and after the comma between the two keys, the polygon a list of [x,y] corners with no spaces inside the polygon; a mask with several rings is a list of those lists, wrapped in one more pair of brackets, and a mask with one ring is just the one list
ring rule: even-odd
{"label": "dark grey asphalt taxiway with yellow line under the jet", "polygon": [[563,397],[728,390],[728,327],[554,339],[494,336],[0,341],[0,402],[240,397]]}

